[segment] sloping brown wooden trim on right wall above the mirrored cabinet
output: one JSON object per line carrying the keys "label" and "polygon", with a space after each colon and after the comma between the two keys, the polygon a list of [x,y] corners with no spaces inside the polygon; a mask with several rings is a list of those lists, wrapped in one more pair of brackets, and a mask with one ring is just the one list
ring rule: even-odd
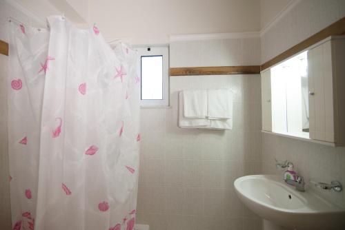
{"label": "sloping brown wooden trim on right wall above the mirrored cabinet", "polygon": [[302,50],[305,50],[306,48],[310,47],[311,45],[314,45],[315,43],[318,43],[319,41],[326,39],[328,36],[343,34],[345,34],[345,17],[331,25],[328,25],[328,27],[317,32],[313,36],[310,36],[308,39],[298,43],[297,45],[286,50],[285,52],[282,52],[282,54],[279,54],[278,56],[275,56],[273,59],[270,59],[270,61],[267,61],[266,63],[262,64],[261,70],[265,70],[268,67],[271,67],[281,61],[284,61],[285,59],[288,59],[290,56],[293,56],[301,52]]}

